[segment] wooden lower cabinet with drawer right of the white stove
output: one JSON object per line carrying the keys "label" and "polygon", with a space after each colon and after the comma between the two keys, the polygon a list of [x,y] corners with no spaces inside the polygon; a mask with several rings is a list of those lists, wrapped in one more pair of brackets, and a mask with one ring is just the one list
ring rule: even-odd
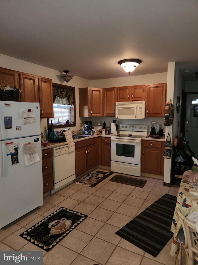
{"label": "wooden lower cabinet with drawer right of the white stove", "polygon": [[141,171],[164,176],[164,141],[142,140]]}

